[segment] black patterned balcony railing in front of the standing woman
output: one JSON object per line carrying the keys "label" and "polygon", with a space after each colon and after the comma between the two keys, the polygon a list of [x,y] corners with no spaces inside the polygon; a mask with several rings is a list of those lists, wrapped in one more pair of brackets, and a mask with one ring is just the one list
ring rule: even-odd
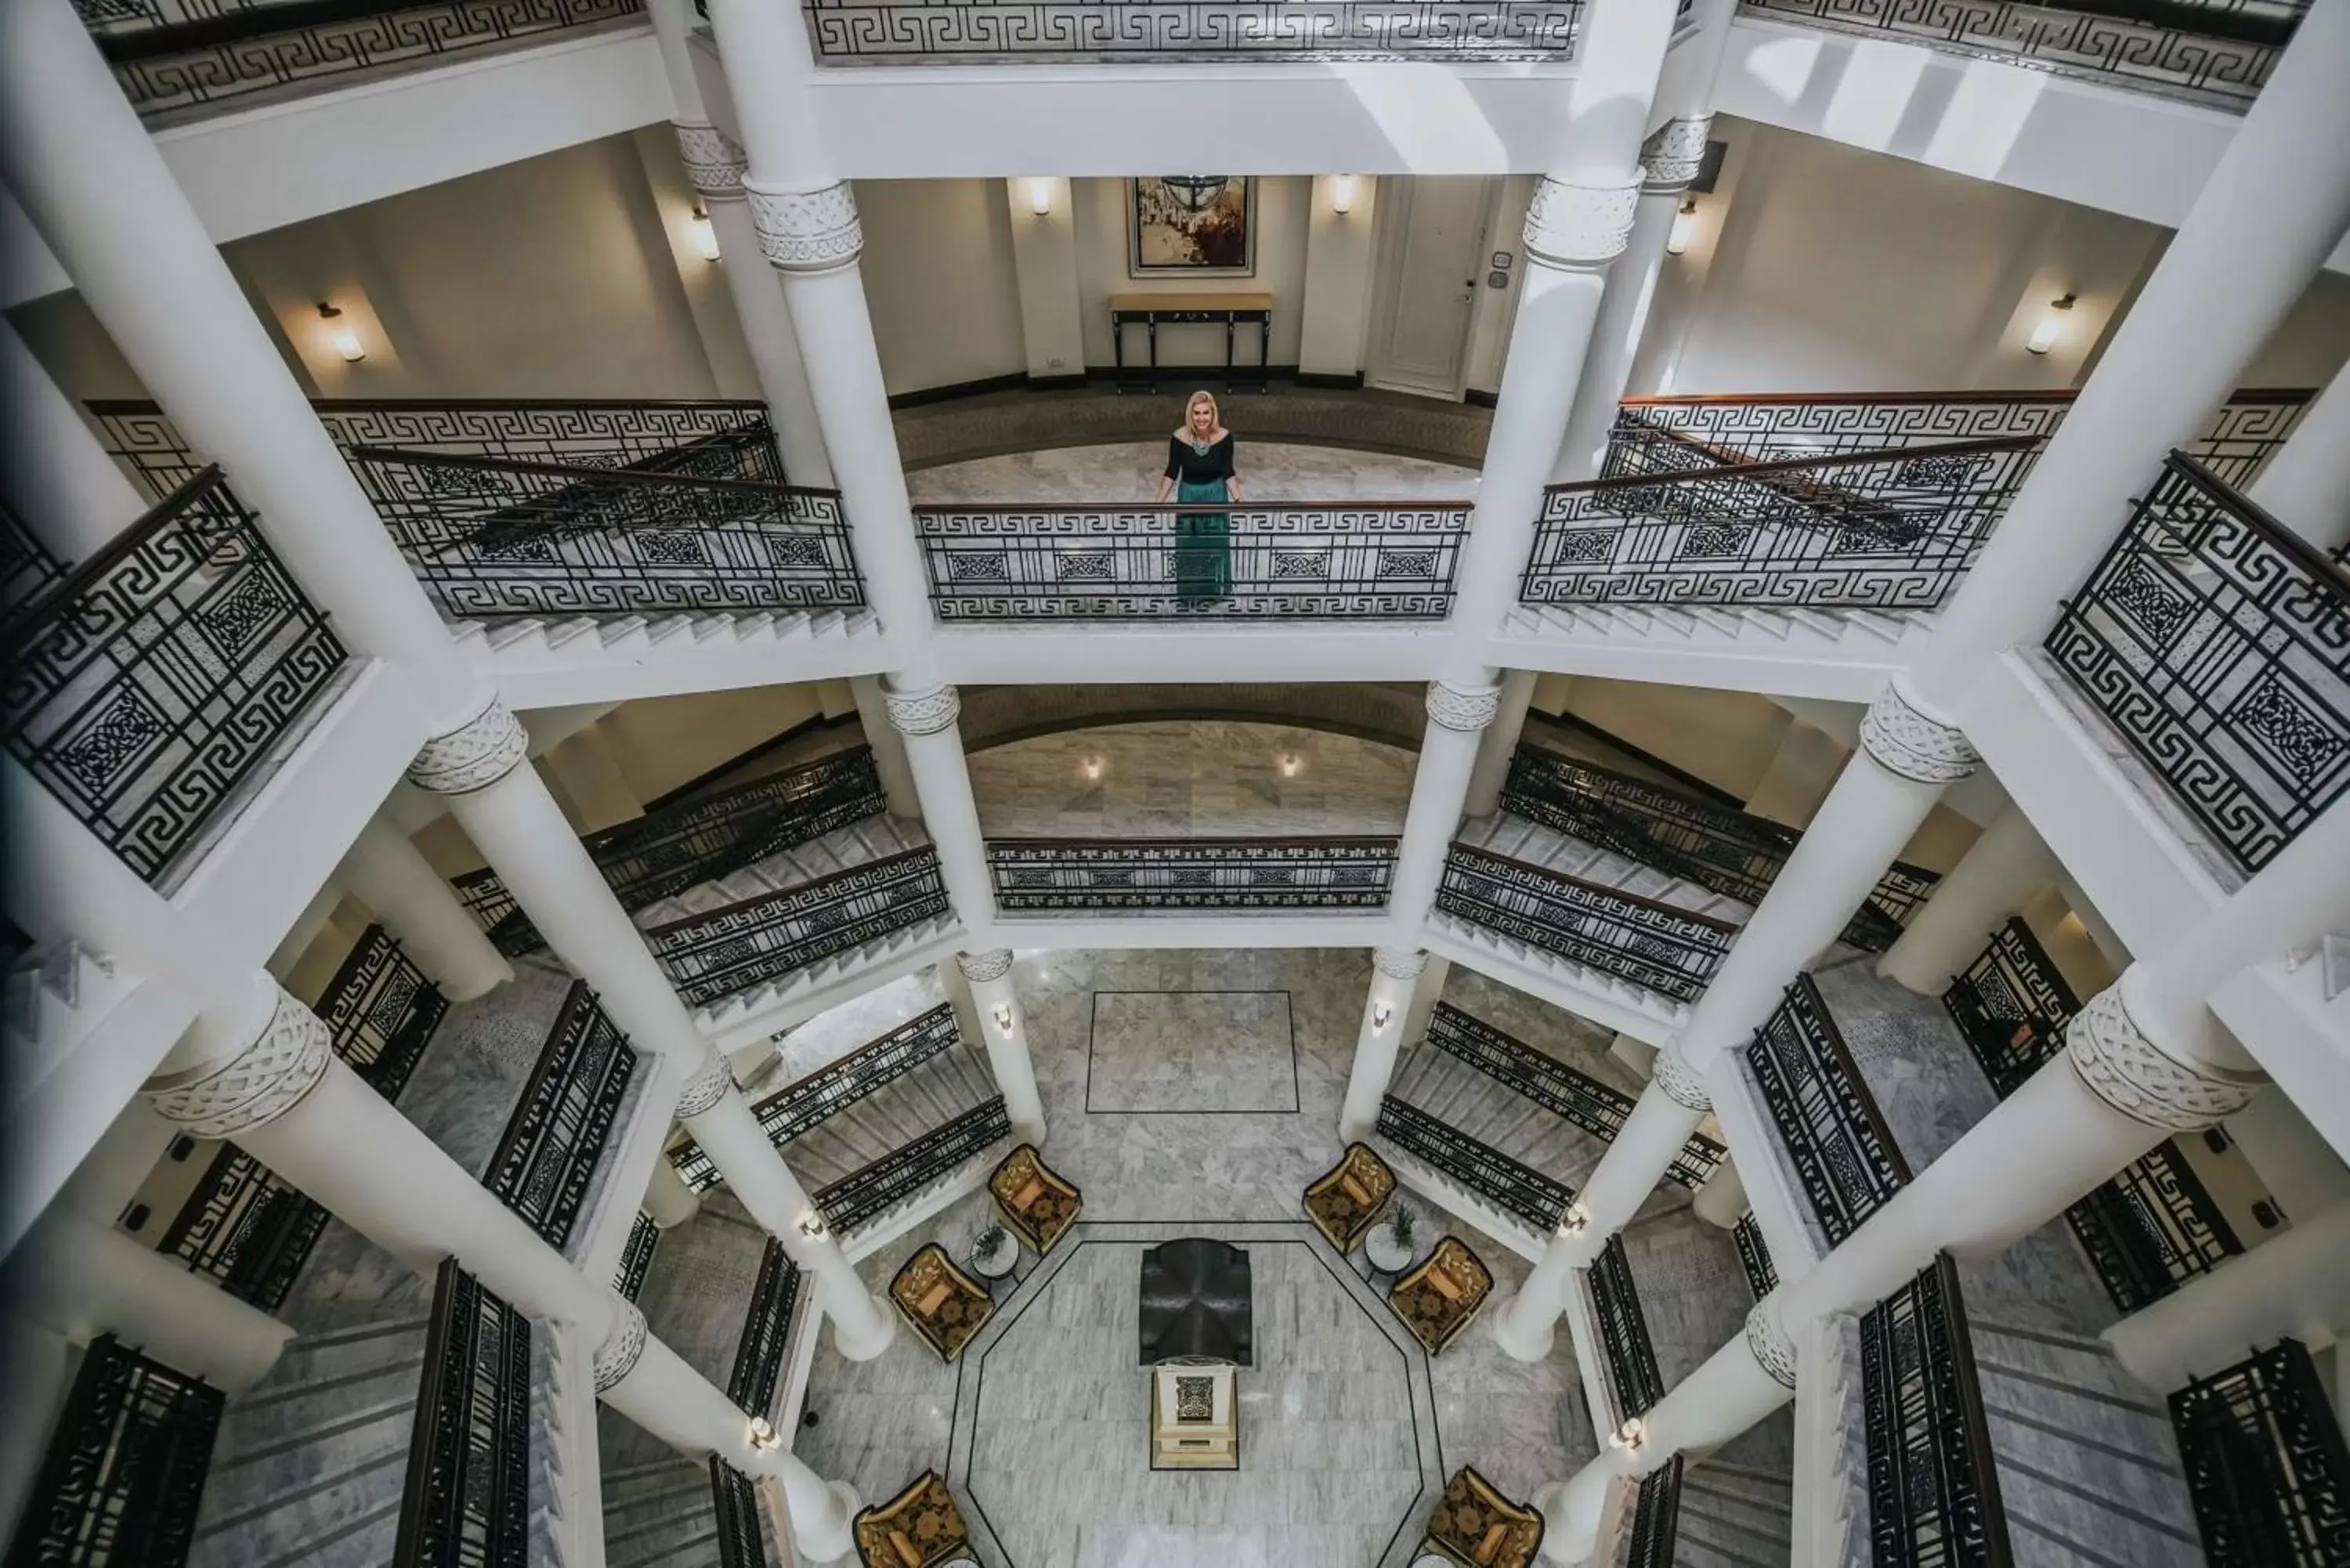
{"label": "black patterned balcony railing in front of the standing woman", "polygon": [[1436,621],[1469,505],[921,505],[914,531],[940,621]]}

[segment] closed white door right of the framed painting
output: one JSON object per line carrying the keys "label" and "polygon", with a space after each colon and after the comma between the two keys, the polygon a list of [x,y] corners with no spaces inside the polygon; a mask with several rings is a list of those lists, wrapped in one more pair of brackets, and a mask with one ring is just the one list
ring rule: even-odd
{"label": "closed white door right of the framed painting", "polygon": [[1370,386],[1459,397],[1469,306],[1485,275],[1492,179],[1431,174],[1379,181],[1379,275],[1372,287]]}

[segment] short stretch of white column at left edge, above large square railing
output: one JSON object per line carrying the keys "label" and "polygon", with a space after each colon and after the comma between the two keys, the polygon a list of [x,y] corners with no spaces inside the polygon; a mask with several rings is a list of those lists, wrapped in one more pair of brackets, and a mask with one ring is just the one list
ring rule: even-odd
{"label": "short stretch of white column at left edge, above large square railing", "polygon": [[132,477],[5,320],[0,409],[9,418],[0,496],[49,555],[68,564],[87,559],[148,510]]}

